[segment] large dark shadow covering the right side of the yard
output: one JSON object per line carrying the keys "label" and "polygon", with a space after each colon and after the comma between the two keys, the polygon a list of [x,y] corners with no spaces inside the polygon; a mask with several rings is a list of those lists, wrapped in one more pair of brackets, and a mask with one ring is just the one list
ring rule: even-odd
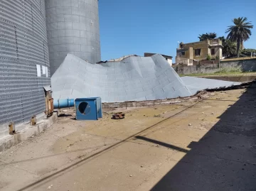
{"label": "large dark shadow covering the right side of the yard", "polygon": [[256,84],[188,148],[151,190],[256,190]]}

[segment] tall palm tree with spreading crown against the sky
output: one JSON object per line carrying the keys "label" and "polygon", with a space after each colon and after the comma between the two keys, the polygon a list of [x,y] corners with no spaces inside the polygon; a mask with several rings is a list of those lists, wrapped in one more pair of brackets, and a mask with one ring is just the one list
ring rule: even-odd
{"label": "tall palm tree with spreading crown against the sky", "polygon": [[228,26],[225,31],[228,33],[227,38],[233,42],[237,42],[237,56],[239,57],[240,43],[243,45],[244,40],[248,40],[252,35],[250,28],[253,28],[251,22],[246,22],[247,18],[238,17],[233,19],[235,26]]}

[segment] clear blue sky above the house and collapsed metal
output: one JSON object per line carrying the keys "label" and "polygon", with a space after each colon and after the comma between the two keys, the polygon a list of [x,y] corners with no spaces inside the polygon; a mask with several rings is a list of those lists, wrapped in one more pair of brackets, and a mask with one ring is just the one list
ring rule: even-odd
{"label": "clear blue sky above the house and collapsed metal", "polygon": [[177,42],[198,41],[201,33],[226,36],[232,19],[252,21],[245,48],[256,48],[255,0],[100,0],[102,60],[144,52],[176,55]]}

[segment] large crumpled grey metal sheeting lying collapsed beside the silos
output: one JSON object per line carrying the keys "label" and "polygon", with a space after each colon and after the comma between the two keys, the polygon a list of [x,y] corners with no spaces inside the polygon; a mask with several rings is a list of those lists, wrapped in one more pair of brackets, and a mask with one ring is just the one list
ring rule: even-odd
{"label": "large crumpled grey metal sheeting lying collapsed beside the silos", "polygon": [[126,102],[192,95],[161,55],[99,65],[68,54],[51,82],[54,99],[101,97],[102,102]]}

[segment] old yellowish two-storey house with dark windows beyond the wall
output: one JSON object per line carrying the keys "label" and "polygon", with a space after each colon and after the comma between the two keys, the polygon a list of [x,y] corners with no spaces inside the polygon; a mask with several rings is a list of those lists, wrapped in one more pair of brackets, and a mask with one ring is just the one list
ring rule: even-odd
{"label": "old yellowish two-storey house with dark windows beyond the wall", "polygon": [[193,65],[193,60],[222,58],[222,40],[204,40],[196,43],[180,43],[177,48],[176,64]]}

